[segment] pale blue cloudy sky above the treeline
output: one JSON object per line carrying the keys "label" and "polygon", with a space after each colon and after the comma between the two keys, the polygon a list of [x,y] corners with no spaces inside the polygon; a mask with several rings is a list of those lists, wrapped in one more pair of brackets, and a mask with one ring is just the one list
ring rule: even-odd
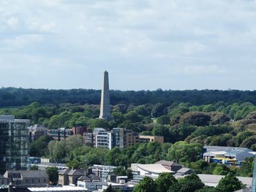
{"label": "pale blue cloudy sky above the treeline", "polygon": [[255,0],[0,0],[0,85],[256,89]]}

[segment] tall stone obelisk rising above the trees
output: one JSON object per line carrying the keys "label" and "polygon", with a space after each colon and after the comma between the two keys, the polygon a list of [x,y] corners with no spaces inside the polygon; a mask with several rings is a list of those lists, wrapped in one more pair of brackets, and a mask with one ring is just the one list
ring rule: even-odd
{"label": "tall stone obelisk rising above the trees", "polygon": [[102,97],[100,101],[100,114],[99,118],[109,120],[110,115],[110,97],[109,97],[109,82],[108,72],[104,72],[103,83],[102,83]]}

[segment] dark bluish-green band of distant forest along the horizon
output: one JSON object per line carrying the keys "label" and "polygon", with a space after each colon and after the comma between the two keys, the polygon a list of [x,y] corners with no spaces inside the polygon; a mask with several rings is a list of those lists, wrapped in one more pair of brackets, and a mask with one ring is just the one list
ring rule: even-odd
{"label": "dark bluish-green band of distant forest along the horizon", "polygon": [[[38,101],[40,104],[99,104],[100,91],[86,89],[48,90],[0,88],[0,107],[17,107]],[[110,91],[110,103],[116,104],[157,104],[185,102],[192,105],[214,104],[223,101],[227,104],[249,101],[256,104],[256,91]]]}

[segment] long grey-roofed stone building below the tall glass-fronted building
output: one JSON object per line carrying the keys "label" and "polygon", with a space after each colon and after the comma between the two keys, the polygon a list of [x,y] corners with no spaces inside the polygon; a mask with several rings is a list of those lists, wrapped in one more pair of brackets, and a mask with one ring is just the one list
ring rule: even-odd
{"label": "long grey-roofed stone building below the tall glass-fronted building", "polygon": [[12,181],[12,185],[18,188],[46,187],[49,177],[45,170],[20,170],[7,171],[5,178]]}

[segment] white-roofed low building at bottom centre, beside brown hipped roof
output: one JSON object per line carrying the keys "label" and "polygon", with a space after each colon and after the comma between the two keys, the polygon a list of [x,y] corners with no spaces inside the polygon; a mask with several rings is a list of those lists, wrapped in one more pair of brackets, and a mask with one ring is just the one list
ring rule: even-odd
{"label": "white-roofed low building at bottom centre, beside brown hipped roof", "polygon": [[131,169],[133,172],[137,172],[140,175],[155,177],[158,177],[159,174],[163,172],[175,173],[166,169],[165,166],[162,166],[161,164],[132,164]]}

